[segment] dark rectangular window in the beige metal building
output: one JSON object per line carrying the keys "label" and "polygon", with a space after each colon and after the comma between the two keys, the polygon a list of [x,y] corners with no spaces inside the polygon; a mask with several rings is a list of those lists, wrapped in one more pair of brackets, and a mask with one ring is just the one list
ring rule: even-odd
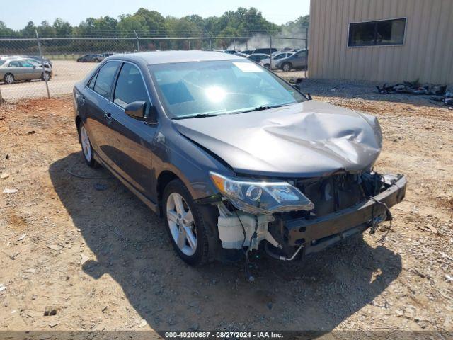
{"label": "dark rectangular window in the beige metal building", "polygon": [[349,24],[348,46],[403,45],[406,18]]}

